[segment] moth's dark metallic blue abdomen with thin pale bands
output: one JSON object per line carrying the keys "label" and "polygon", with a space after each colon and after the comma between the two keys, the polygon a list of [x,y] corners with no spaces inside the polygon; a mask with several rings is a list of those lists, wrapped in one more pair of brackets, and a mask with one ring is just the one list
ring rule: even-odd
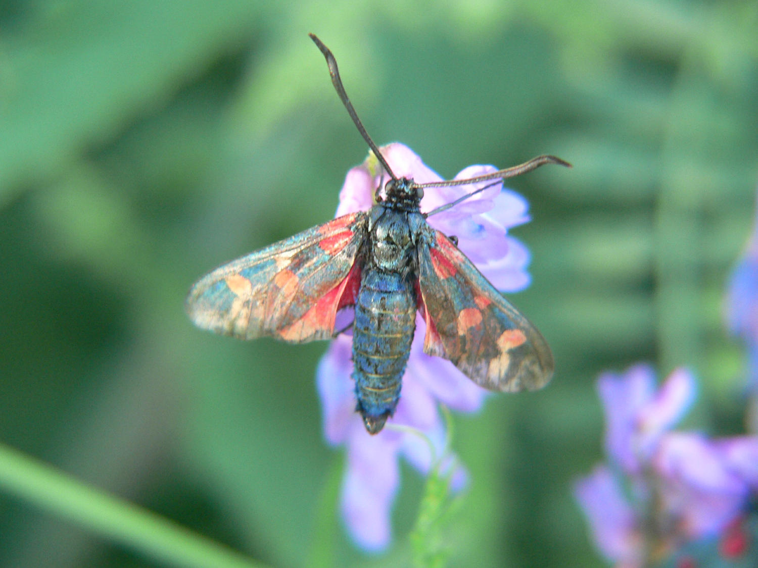
{"label": "moth's dark metallic blue abdomen with thin pale bands", "polygon": [[399,273],[364,269],[356,301],[352,360],[356,398],[366,429],[379,432],[400,396],[411,351],[416,298]]}

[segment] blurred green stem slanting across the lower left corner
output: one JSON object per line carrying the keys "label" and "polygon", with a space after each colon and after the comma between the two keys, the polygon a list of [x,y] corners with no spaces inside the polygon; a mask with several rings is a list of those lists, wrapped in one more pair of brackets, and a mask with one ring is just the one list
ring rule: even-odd
{"label": "blurred green stem slanting across the lower left corner", "polygon": [[170,566],[265,568],[218,542],[91,488],[4,444],[0,444],[0,492],[29,501]]}

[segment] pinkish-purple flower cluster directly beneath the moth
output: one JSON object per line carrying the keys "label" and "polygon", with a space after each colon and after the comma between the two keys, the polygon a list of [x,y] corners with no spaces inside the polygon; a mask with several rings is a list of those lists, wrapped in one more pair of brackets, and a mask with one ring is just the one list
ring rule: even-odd
{"label": "pinkish-purple flower cluster directly beneath the moth", "polygon": [[[442,179],[405,145],[393,143],[381,151],[396,176],[410,177],[418,183]],[[493,171],[496,168],[492,166],[471,166],[456,179]],[[384,186],[386,179],[376,158],[369,155],[363,164],[347,173],[337,216],[371,208],[374,192]],[[428,189],[421,200],[421,211],[455,201],[482,185],[486,184]],[[526,272],[529,254],[522,243],[506,236],[506,231],[526,223],[527,211],[524,198],[496,183],[456,207],[429,217],[429,223],[447,235],[456,235],[459,248],[496,288],[515,292],[529,284]],[[345,323],[349,320],[347,317]],[[447,470],[452,474],[453,489],[462,488],[466,482],[465,469],[456,457],[442,455],[446,431],[437,407],[441,402],[454,410],[474,412],[481,407],[487,392],[449,361],[424,354],[424,332],[424,320],[417,316],[415,338],[402,379],[402,395],[388,425],[409,426],[423,432],[428,442],[418,433],[391,427],[377,435],[365,431],[355,411],[349,335],[335,339],[318,365],[324,435],[331,445],[345,445],[347,450],[341,498],[343,517],[352,538],[368,551],[381,550],[390,542],[390,510],[399,486],[400,456],[424,474],[435,465]],[[443,462],[436,463],[440,459]]]}

